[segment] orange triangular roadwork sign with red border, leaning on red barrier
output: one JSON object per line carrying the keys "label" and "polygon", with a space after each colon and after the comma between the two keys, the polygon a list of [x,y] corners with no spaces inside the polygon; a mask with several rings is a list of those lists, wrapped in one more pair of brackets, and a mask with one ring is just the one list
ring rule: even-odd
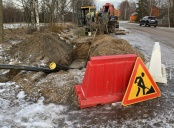
{"label": "orange triangular roadwork sign with red border, leaning on red barrier", "polygon": [[126,106],[160,96],[161,92],[143,61],[137,58],[122,104]]}

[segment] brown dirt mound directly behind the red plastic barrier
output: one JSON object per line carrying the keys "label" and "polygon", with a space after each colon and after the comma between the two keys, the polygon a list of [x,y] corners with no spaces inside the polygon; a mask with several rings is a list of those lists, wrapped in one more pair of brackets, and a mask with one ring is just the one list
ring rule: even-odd
{"label": "brown dirt mound directly behind the red plastic barrier", "polygon": [[136,54],[145,60],[144,55],[133,48],[126,40],[109,35],[98,36],[91,45],[90,57],[119,54]]}

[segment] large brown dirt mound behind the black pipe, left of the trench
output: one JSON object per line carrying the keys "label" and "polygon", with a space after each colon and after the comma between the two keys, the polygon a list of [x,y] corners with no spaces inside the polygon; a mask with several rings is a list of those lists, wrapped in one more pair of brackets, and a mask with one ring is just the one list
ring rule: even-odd
{"label": "large brown dirt mound behind the black pipe, left of the trench", "polygon": [[72,45],[61,40],[56,33],[34,33],[30,38],[13,45],[9,54],[22,64],[38,65],[55,62],[69,65],[72,61]]}

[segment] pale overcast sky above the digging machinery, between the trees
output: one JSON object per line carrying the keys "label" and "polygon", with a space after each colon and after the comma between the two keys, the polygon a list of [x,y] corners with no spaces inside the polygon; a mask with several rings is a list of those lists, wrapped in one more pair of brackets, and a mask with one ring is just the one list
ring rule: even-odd
{"label": "pale overcast sky above the digging machinery, between the trees", "polygon": [[[111,3],[115,8],[118,8],[119,4],[124,0],[94,0],[96,8],[101,8],[106,3]],[[129,2],[137,1],[137,0],[128,0]]]}

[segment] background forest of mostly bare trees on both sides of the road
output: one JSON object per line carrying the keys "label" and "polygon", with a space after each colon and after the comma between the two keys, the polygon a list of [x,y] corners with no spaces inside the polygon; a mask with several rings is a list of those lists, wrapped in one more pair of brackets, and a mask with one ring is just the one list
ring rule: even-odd
{"label": "background forest of mostly bare trees on both sides of the road", "polygon": [[[29,23],[31,29],[39,23],[72,22],[78,23],[77,12],[81,6],[95,5],[95,0],[0,0],[0,35],[3,37],[3,23]],[[165,25],[174,26],[174,0],[123,0],[117,7],[120,20],[129,20],[137,13],[136,21],[152,15],[156,8],[157,19]],[[1,39],[0,39],[0,42]]]}

